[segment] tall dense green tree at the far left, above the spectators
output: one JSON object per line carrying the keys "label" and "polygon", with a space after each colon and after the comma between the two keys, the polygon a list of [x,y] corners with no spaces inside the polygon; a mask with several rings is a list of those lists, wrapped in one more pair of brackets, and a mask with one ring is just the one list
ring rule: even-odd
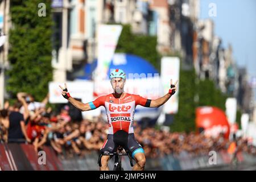
{"label": "tall dense green tree at the far left, above the spectators", "polygon": [[52,80],[52,16],[51,0],[44,1],[46,16],[39,17],[40,0],[12,0],[7,91],[31,93],[36,100],[42,100]]}

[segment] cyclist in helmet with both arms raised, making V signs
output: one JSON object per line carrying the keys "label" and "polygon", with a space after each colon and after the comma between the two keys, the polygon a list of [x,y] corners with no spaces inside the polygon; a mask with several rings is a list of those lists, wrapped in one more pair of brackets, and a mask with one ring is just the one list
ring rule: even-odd
{"label": "cyclist in helmet with both arms raised, making V signs", "polygon": [[[126,74],[122,69],[114,69],[109,77],[114,92],[106,96],[98,97],[92,102],[84,104],[72,98],[68,93],[66,84],[65,88],[60,86],[61,90],[63,90],[61,94],[71,102],[72,105],[82,111],[93,110],[97,107],[104,106],[108,116],[109,133],[100,152],[103,154],[113,153],[117,151],[118,146],[122,146],[136,161],[133,170],[142,171],[146,163],[146,158],[141,144],[134,138],[133,122],[135,107],[137,105],[142,105],[144,107],[162,106],[176,92],[177,81],[173,85],[171,80],[171,88],[163,97],[156,100],[150,100],[139,95],[123,92],[126,82]],[[109,159],[109,155],[102,156],[102,166],[100,167],[100,170],[109,170]]]}

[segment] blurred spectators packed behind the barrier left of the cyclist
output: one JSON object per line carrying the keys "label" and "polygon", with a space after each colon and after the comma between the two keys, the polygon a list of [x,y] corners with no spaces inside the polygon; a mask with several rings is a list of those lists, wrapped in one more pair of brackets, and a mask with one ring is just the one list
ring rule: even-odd
{"label": "blurred spectators packed behind the barrier left of the cyclist", "polygon": [[0,110],[1,142],[30,143],[35,151],[46,145],[57,154],[73,156],[100,150],[106,140],[108,125],[100,117],[75,122],[69,115],[68,105],[57,114],[46,107],[48,95],[42,102],[34,101],[27,93],[18,93],[17,98],[14,105],[7,101]]}

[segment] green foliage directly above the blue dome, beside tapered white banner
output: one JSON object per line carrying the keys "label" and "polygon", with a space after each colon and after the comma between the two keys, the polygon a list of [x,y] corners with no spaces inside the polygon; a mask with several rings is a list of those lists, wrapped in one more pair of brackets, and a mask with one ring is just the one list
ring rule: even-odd
{"label": "green foliage directly above the blue dome, beside tapered white banner", "polygon": [[131,53],[148,60],[160,71],[160,55],[156,51],[156,36],[135,35],[130,25],[123,25],[115,52]]}

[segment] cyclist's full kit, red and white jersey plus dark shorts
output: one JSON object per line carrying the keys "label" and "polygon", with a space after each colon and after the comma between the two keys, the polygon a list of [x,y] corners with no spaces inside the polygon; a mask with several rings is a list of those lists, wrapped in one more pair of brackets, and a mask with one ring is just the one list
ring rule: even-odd
{"label": "cyclist's full kit, red and white jersey plus dark shorts", "polygon": [[144,152],[134,137],[134,112],[137,105],[150,107],[150,103],[151,100],[129,93],[125,93],[123,98],[115,98],[113,94],[108,94],[89,102],[91,109],[104,106],[108,116],[109,134],[101,147],[101,154],[115,152],[118,146],[122,146],[133,158],[138,152]]}

